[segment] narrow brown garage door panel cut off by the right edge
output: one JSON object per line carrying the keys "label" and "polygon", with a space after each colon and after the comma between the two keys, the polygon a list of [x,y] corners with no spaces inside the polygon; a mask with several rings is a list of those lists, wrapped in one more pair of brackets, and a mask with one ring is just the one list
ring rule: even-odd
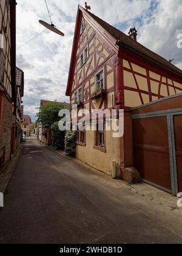
{"label": "narrow brown garage door panel cut off by the right edge", "polygon": [[182,115],[174,116],[174,133],[177,159],[178,192],[182,192]]}

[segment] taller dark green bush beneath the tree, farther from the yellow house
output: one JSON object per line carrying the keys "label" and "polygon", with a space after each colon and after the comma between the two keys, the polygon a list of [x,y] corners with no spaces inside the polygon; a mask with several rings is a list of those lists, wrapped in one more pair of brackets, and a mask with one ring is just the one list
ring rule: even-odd
{"label": "taller dark green bush beneath the tree, farther from the yellow house", "polygon": [[64,150],[65,132],[59,130],[58,122],[52,124],[52,146],[56,149]]}

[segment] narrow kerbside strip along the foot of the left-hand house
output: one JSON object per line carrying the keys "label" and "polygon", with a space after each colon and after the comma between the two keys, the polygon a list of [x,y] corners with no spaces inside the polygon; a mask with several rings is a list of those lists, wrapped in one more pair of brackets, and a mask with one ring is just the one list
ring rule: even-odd
{"label": "narrow kerbside strip along the foot of the left-hand house", "polygon": [[0,192],[5,193],[7,190],[10,179],[12,178],[13,172],[18,164],[19,157],[21,156],[22,145],[19,145],[19,148],[16,151],[16,154],[12,157],[12,159],[7,163],[7,165],[2,168],[2,172],[0,174]]}

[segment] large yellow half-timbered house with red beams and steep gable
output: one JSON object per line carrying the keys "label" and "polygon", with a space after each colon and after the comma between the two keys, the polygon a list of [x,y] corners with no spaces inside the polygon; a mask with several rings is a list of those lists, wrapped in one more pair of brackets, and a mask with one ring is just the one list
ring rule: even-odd
{"label": "large yellow half-timbered house with red beams and steep gable", "polygon": [[[130,109],[182,93],[182,71],[163,57],[97,16],[78,7],[66,95],[70,109],[124,110],[124,136],[106,129],[78,132],[76,157],[107,174],[113,162],[118,176],[133,165]],[[181,105],[182,107],[182,105]],[[139,170],[140,171],[140,170]]]}

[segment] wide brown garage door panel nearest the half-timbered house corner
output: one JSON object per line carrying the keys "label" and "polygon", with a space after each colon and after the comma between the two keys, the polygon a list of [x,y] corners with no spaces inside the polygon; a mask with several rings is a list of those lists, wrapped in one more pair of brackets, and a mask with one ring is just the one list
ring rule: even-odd
{"label": "wide brown garage door panel nearest the half-timbered house corner", "polygon": [[144,180],[171,191],[167,116],[133,119],[133,162]]}

